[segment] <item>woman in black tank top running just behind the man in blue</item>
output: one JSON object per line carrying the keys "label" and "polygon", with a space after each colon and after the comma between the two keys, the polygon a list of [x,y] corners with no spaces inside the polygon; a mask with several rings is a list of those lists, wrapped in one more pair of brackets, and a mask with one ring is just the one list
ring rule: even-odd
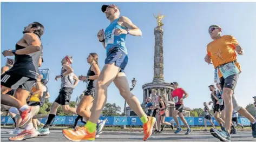
{"label": "woman in black tank top running just behind the man in blue", "polygon": [[87,57],[87,63],[90,64],[87,76],[79,76],[79,80],[85,82],[86,90],[83,91],[83,98],[80,100],[76,108],[78,117],[75,120],[75,124],[72,127],[75,129],[79,119],[83,117],[88,120],[90,118],[90,109],[93,106],[94,94],[95,94],[95,84],[96,80],[100,75],[100,68],[98,65],[98,55],[97,53],[90,53]]}

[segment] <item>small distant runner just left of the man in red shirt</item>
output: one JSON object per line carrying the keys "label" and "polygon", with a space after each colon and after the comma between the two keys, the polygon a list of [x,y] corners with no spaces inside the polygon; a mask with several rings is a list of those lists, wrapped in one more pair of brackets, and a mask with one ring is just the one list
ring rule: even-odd
{"label": "small distant runner just left of the man in red shirt", "polygon": [[166,103],[163,101],[162,96],[159,96],[159,107],[157,107],[157,109],[158,109],[157,112],[159,112],[157,117],[158,130],[160,130],[160,127],[161,127],[161,131],[163,131],[163,129],[165,128],[165,125],[169,125],[173,129],[173,124],[165,121]]}

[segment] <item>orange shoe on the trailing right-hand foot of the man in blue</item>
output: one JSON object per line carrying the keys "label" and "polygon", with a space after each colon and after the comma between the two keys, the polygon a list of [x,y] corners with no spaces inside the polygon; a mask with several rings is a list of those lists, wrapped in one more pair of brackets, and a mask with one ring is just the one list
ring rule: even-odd
{"label": "orange shoe on the trailing right-hand foot of the man in blue", "polygon": [[143,124],[143,131],[144,131],[143,140],[144,141],[146,141],[151,136],[154,125],[155,125],[155,118],[148,117],[147,123]]}

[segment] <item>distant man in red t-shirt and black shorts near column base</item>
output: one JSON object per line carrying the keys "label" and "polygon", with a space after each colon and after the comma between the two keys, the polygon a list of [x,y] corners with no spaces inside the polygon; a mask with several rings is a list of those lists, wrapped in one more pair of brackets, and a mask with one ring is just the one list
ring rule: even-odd
{"label": "distant man in red t-shirt and black shorts near column base", "polygon": [[[177,124],[177,130],[174,132],[175,134],[178,134],[182,131],[179,123],[179,119],[177,115],[179,115],[180,120],[183,122],[183,124],[187,127],[187,132],[185,134],[190,134],[193,130],[190,129],[188,126],[188,123],[186,119],[184,118],[182,111],[184,108],[183,105],[183,99],[188,97],[188,93],[183,90],[182,88],[179,88],[179,84],[177,82],[173,82],[174,90],[170,92],[170,97],[173,99],[175,103],[175,110],[173,111],[173,118],[175,120],[175,123]],[[185,94],[185,95],[184,95]]]}

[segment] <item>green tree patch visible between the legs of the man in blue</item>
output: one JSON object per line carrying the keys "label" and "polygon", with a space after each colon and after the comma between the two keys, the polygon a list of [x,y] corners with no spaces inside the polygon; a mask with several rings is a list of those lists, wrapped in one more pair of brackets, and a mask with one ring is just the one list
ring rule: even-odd
{"label": "green tree patch visible between the legs of the man in blue", "polygon": [[120,116],[121,107],[116,104],[107,103],[102,111],[103,116]]}

